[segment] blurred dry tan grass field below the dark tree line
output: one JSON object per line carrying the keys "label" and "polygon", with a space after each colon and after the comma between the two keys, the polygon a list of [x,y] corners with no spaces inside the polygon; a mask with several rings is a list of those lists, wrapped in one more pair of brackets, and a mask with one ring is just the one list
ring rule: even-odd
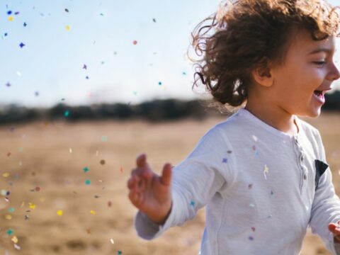
{"label": "blurred dry tan grass field below the dark tree line", "polygon": [[[144,241],[132,225],[136,210],[126,182],[138,154],[147,153],[155,171],[165,162],[176,165],[223,119],[2,126],[0,191],[10,194],[8,202],[0,195],[0,206],[7,206],[0,210],[0,254],[198,254],[204,211]],[[340,194],[340,115],[307,121],[322,134]],[[308,232],[302,255],[314,254],[329,253]]]}

